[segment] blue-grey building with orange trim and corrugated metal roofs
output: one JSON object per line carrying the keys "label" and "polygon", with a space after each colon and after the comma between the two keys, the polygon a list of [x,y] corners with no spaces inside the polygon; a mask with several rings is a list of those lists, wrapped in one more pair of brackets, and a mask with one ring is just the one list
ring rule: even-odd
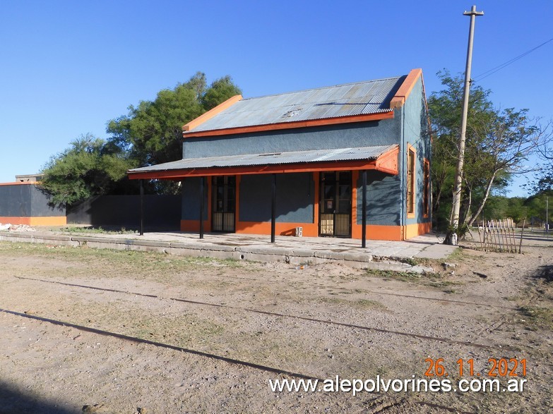
{"label": "blue-grey building with orange trim and corrugated metal roofs", "polygon": [[129,178],[182,181],[182,231],[198,231],[202,215],[212,232],[270,234],[274,222],[279,235],[361,238],[363,171],[367,238],[398,241],[431,229],[420,69],[237,95],[187,123],[183,138],[182,159],[129,170]]}

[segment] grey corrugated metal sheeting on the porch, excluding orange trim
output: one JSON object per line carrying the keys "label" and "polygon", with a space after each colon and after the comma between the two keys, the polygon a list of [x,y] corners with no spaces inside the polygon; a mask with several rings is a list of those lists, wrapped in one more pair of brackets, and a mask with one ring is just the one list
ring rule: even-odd
{"label": "grey corrugated metal sheeting on the porch, excluding orange trim", "polygon": [[309,162],[357,161],[377,159],[397,145],[339,148],[336,150],[310,150],[273,152],[270,154],[227,155],[225,157],[186,158],[153,166],[129,170],[129,173],[170,171],[178,169],[208,169],[233,166],[262,166],[272,164],[301,164]]}

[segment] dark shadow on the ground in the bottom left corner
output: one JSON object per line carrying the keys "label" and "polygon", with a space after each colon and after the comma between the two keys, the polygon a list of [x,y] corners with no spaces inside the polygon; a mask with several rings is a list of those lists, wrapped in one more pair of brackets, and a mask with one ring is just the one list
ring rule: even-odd
{"label": "dark shadow on the ground in the bottom left corner", "polygon": [[81,410],[70,410],[57,406],[53,401],[43,400],[25,393],[16,387],[0,381],[0,414],[75,414]]}

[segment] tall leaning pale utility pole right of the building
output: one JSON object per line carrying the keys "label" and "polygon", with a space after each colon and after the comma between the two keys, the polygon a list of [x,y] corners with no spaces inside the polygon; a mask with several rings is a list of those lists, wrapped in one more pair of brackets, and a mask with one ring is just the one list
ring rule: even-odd
{"label": "tall leaning pale utility pole right of the building", "polygon": [[483,11],[476,11],[476,6],[472,6],[471,11],[465,11],[465,16],[470,16],[470,30],[468,32],[468,50],[467,50],[467,66],[465,68],[465,90],[463,92],[463,115],[461,116],[461,130],[459,138],[459,160],[457,163],[457,171],[455,175],[455,188],[453,189],[453,207],[451,214],[450,226],[451,230],[446,237],[446,243],[457,245],[459,227],[459,210],[460,210],[460,195],[463,187],[463,166],[465,165],[465,140],[467,133],[467,114],[468,114],[468,96],[470,92],[470,68],[472,66],[472,39],[475,34],[475,17],[483,16]]}

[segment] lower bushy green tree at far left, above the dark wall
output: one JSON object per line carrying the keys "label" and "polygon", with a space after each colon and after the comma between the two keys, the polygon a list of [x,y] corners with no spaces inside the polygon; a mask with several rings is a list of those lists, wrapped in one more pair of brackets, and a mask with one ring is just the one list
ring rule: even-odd
{"label": "lower bushy green tree at far left, above the dark wall", "polygon": [[54,205],[71,205],[111,192],[134,166],[136,163],[104,140],[82,135],[42,168],[41,186],[52,195]]}

